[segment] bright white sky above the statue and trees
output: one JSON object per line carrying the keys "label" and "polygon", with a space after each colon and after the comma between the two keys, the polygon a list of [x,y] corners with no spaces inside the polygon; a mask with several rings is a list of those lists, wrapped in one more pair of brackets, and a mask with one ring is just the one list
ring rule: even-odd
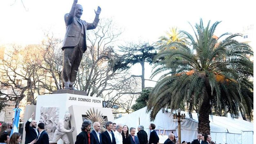
{"label": "bright white sky above the statue and trees", "polygon": [[[72,0],[0,0],[0,46],[17,43],[40,44],[44,32],[53,32],[55,37],[65,34],[64,14],[70,11]],[[78,0],[84,8],[81,19],[92,22],[97,6],[102,11],[100,18],[112,18],[124,30],[120,40],[126,42],[155,42],[173,26],[192,33],[200,18],[206,25],[222,21],[215,32],[241,32],[243,26],[254,24],[255,5],[252,1],[230,0]],[[149,79],[151,66],[146,65],[145,78]],[[140,75],[139,64],[131,69],[133,75]],[[146,82],[147,86],[155,83]]]}

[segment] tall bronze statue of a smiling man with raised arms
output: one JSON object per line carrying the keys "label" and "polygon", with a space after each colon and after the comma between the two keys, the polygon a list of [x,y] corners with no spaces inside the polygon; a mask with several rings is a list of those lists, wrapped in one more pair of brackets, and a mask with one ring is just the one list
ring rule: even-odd
{"label": "tall bronze statue of a smiling man with raised arms", "polygon": [[[95,11],[95,10],[94,10]],[[95,11],[93,23],[87,23],[81,20],[83,7],[74,0],[69,13],[65,14],[66,34],[63,40],[62,50],[63,68],[62,68],[62,88],[74,89],[77,70],[82,60],[83,53],[86,51],[86,30],[95,29],[99,22],[101,8],[98,6]]]}

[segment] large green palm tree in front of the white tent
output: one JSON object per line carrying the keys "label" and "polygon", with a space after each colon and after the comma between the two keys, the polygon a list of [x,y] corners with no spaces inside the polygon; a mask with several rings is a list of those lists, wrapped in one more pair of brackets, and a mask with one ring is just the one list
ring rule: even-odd
{"label": "large green palm tree in front of the white tent", "polygon": [[[241,34],[224,33],[219,38],[213,33],[220,22],[204,27],[202,19],[195,25],[195,39],[183,32],[189,44],[172,42],[163,47],[177,47],[157,54],[159,61],[151,77],[162,74],[152,89],[147,112],[151,120],[163,108],[173,111],[186,105],[189,113],[197,111],[198,132],[210,133],[211,109],[227,111],[232,118],[239,115],[239,108],[252,120],[253,62],[246,55],[253,55],[249,45],[239,43],[234,37]],[[217,42],[223,38],[219,43]],[[168,59],[166,59],[168,57]],[[179,59],[177,59],[179,57]],[[176,68],[173,72],[172,69]],[[171,75],[176,73],[175,75]],[[192,115],[190,115],[192,117]]]}

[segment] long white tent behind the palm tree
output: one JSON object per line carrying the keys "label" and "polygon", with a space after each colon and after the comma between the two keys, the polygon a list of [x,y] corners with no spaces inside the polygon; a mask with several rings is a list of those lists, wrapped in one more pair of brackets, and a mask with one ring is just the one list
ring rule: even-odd
{"label": "long white tent behind the palm tree", "polygon": [[[181,113],[186,114],[186,121],[181,123],[181,141],[191,142],[197,138],[197,113],[192,114],[193,119],[189,118],[187,112],[181,111]],[[219,116],[210,116],[209,120],[211,137],[216,144],[253,144],[253,123],[241,119]],[[166,135],[172,132],[175,136],[178,136],[178,122],[172,121],[172,112],[170,109],[165,113],[162,111],[158,112],[154,122],[150,122],[150,114],[146,113],[146,107],[119,119],[115,119],[115,123],[127,125],[129,128],[137,128],[139,121],[140,125],[144,126],[144,130],[148,134],[150,132],[148,126],[150,123],[154,123],[158,135],[165,131]]]}

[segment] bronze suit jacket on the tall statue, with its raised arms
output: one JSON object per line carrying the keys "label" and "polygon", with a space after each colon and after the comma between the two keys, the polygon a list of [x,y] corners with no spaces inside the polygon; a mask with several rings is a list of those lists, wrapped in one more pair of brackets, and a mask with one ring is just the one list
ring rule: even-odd
{"label": "bronze suit jacket on the tall statue, with its raised arms", "polygon": [[[75,16],[76,4],[73,3],[72,8],[69,13],[66,13],[64,16],[65,24],[66,24],[66,34],[62,44],[62,50],[65,47],[75,47],[77,46],[81,34],[84,34],[84,52],[87,49],[85,34],[86,30],[95,29],[98,25],[99,18],[96,15],[93,23],[86,23],[86,21],[81,20]],[[83,31],[84,27],[84,31]]]}

